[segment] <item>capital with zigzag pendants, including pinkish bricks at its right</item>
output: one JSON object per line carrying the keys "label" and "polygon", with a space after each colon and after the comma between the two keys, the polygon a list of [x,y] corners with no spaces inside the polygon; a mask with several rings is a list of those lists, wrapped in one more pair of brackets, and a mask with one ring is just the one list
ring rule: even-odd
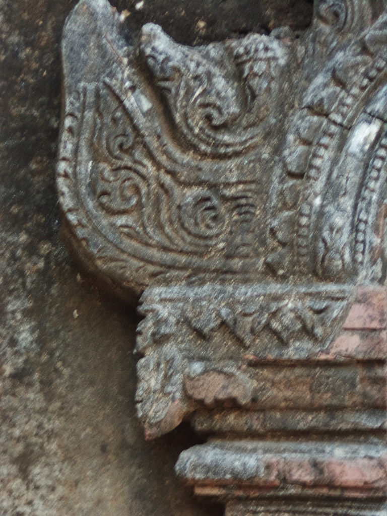
{"label": "capital with zigzag pendants, including pinkish bricks at its right", "polygon": [[[174,428],[195,409],[224,404],[253,411],[286,404],[293,413],[317,407],[359,413],[369,402],[382,410],[380,392],[365,392],[370,385],[376,388],[379,379],[375,383],[371,376],[385,358],[387,297],[378,287],[360,289],[343,321],[347,296],[340,285],[330,292],[293,288],[287,293],[262,286],[148,289],[136,347],[144,355],[138,362],[137,402],[147,436]],[[332,340],[337,319],[342,333]],[[353,360],[367,359],[375,365],[353,368]],[[289,371],[289,362],[298,364],[297,372]]]}

